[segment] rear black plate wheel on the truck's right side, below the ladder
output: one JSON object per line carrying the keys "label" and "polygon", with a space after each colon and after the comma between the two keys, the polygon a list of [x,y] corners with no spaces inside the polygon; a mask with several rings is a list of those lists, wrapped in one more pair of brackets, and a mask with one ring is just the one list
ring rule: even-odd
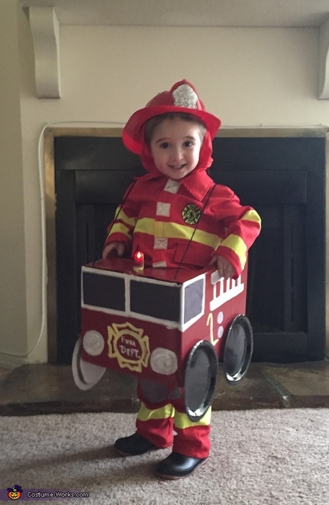
{"label": "rear black plate wheel on the truck's right side, below the ladder", "polygon": [[224,375],[231,385],[237,384],[248,371],[253,354],[253,330],[246,316],[236,316],[228,330],[224,355]]}

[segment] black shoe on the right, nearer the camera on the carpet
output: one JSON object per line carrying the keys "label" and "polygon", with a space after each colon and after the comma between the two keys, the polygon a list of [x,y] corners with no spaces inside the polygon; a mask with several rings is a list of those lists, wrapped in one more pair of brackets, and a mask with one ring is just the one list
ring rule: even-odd
{"label": "black shoe on the right, nearer the camera on the carpet", "polygon": [[156,475],[163,479],[181,479],[192,474],[194,470],[207,461],[207,458],[192,458],[179,452],[172,452],[156,466]]}

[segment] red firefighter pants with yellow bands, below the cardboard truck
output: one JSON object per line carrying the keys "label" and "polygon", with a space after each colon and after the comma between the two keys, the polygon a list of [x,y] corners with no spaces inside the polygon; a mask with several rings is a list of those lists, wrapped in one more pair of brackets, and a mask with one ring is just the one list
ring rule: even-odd
{"label": "red firefighter pants with yellow bands, below the cardboard truck", "polygon": [[[179,398],[173,399],[171,395],[165,395],[163,398],[163,387],[159,385],[162,394],[158,395],[152,392],[145,394],[141,386],[141,381],[138,384],[138,398],[141,401],[141,407],[137,414],[136,428],[137,432],[152,442],[154,445],[165,448],[173,445],[173,451],[196,458],[205,458],[209,456],[210,451],[210,420],[211,407],[207,410],[204,416],[197,422],[191,421],[185,410],[182,391],[175,392]],[[147,381],[148,387],[152,388],[151,383]],[[178,388],[177,388],[178,390]],[[160,401],[150,402],[147,398],[153,397]],[[176,435],[174,436],[174,431]]]}

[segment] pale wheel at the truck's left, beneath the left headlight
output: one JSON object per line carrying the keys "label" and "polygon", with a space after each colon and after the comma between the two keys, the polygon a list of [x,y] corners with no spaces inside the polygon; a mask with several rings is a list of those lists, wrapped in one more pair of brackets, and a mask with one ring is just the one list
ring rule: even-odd
{"label": "pale wheel at the truck's left, beneath the left headlight", "polygon": [[76,341],[72,356],[72,373],[75,384],[82,391],[90,390],[103,377],[106,368],[88,363],[81,358],[82,339]]}

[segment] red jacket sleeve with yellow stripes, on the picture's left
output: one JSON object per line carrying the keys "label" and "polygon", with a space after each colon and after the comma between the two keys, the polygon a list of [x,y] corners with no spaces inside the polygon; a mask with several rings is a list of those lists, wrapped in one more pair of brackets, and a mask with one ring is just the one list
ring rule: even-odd
{"label": "red jacket sleeve with yellow stripes, on the picture's left", "polygon": [[126,247],[130,246],[138,217],[138,206],[131,198],[134,185],[135,183],[128,187],[122,203],[117,207],[114,219],[107,227],[107,237],[103,247],[116,241],[123,242]]}

